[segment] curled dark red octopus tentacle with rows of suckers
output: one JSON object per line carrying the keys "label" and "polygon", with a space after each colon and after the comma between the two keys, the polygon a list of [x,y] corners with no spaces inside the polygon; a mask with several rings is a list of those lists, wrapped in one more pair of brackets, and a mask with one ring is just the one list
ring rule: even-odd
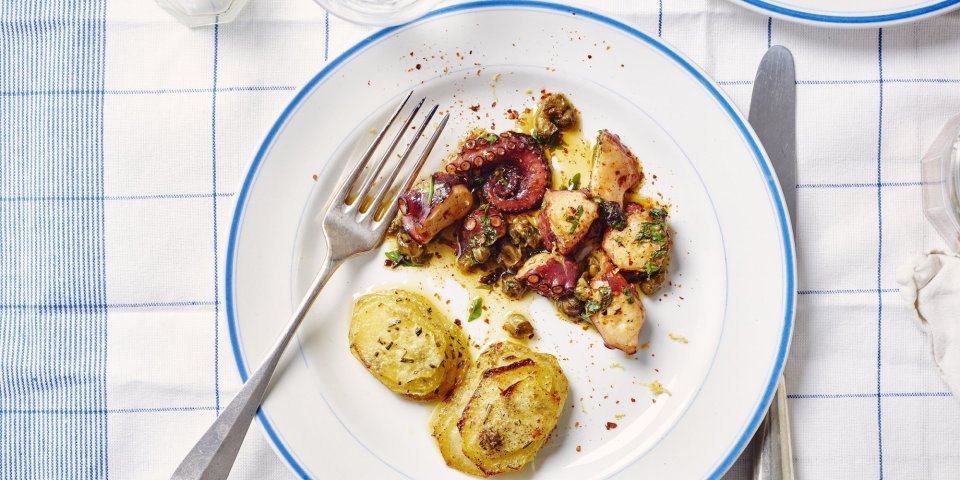
{"label": "curled dark red octopus tentacle with rows of suckers", "polygon": [[517,132],[503,132],[496,139],[480,136],[467,140],[444,170],[486,177],[484,197],[507,213],[536,208],[549,180],[543,149],[530,135]]}

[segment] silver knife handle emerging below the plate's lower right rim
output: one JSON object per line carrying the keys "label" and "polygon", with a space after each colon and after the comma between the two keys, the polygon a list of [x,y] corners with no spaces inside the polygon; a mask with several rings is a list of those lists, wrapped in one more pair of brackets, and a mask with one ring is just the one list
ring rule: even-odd
{"label": "silver knife handle emerging below the plate's lower right rim", "polygon": [[767,416],[754,436],[754,480],[793,480],[793,447],[790,441],[790,413],[783,375],[770,403]]}

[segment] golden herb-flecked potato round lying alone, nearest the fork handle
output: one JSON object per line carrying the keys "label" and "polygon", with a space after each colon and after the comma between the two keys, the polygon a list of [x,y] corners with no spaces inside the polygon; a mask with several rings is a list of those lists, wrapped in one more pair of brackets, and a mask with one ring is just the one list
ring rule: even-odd
{"label": "golden herb-flecked potato round lying alone, nearest the fork handle", "polygon": [[403,290],[358,298],[349,338],[353,356],[380,383],[415,400],[445,397],[470,364],[460,327]]}

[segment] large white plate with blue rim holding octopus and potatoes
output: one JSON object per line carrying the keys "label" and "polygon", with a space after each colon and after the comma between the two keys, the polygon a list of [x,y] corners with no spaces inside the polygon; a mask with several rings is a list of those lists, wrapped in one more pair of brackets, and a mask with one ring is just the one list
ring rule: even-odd
{"label": "large white plate with blue rim holding octopus and potatoes", "polygon": [[[468,129],[509,129],[507,109],[562,91],[584,131],[620,134],[656,176],[644,189],[671,205],[672,284],[643,300],[637,354],[604,348],[533,300],[531,346],[560,360],[570,393],[536,460],[505,477],[721,476],[756,430],[789,348],[795,267],[783,199],[746,120],[700,68],[628,25],[566,6],[444,8],[370,36],[300,90],[257,152],[234,215],[226,298],[240,376],[259,364],[316,270],[319,217],[341,172],[410,89],[451,115],[424,172]],[[428,432],[434,405],[366,373],[347,327],[363,293],[421,290],[465,318],[469,292],[416,268],[384,268],[383,253],[349,261],[327,284],[259,420],[304,478],[465,478]],[[464,324],[471,343],[502,335],[495,321]]]}

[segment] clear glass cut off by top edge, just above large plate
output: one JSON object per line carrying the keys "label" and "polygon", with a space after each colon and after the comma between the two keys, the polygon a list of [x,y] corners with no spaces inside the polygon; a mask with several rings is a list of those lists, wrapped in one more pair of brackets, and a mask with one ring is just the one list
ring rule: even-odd
{"label": "clear glass cut off by top edge, just above large plate", "polygon": [[360,25],[386,27],[423,16],[440,0],[316,0],[328,12]]}

